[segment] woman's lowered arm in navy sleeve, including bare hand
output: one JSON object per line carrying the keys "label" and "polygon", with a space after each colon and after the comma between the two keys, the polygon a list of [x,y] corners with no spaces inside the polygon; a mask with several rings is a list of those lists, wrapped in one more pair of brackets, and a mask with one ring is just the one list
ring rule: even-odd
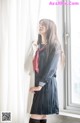
{"label": "woman's lowered arm in navy sleeve, including bare hand", "polygon": [[[53,53],[52,53],[53,54]],[[58,60],[59,60],[59,53],[55,53],[54,55],[51,55],[44,74],[39,82],[39,85],[37,87],[31,87],[30,88],[30,92],[34,93],[35,91],[40,91],[42,89],[42,87],[48,83],[48,80],[55,74],[56,69],[57,69],[57,64],[58,64]]]}

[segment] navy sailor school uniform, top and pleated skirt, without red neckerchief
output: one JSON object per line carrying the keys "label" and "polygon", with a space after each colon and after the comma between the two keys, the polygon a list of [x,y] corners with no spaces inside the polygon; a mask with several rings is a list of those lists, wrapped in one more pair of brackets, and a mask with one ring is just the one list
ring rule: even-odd
{"label": "navy sailor school uniform, top and pleated skirt, without red neckerchief", "polygon": [[39,49],[42,48],[39,52],[38,70],[34,70],[34,86],[40,85],[42,89],[33,95],[30,114],[59,114],[56,71],[60,53],[54,49],[47,59],[44,44],[39,45]]}

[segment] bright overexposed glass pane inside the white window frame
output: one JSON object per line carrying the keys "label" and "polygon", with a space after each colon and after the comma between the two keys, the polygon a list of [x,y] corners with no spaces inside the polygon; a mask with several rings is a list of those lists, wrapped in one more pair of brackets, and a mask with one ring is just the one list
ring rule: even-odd
{"label": "bright overexposed glass pane inside the white window frame", "polygon": [[71,6],[71,94],[80,105],[80,6]]}

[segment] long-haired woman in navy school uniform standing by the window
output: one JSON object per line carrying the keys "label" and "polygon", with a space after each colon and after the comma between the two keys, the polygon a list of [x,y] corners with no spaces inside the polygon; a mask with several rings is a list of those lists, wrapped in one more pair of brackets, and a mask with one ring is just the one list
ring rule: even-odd
{"label": "long-haired woman in navy school uniform standing by the window", "polygon": [[56,70],[61,55],[61,46],[57,38],[56,25],[52,20],[39,21],[38,41],[33,57],[35,86],[29,123],[46,123],[48,114],[59,114]]}

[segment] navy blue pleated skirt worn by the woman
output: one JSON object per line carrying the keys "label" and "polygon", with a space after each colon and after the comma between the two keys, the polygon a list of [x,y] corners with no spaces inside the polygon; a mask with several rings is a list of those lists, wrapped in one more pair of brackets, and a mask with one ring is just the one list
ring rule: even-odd
{"label": "navy blue pleated skirt worn by the woman", "polygon": [[48,83],[35,92],[31,107],[31,114],[59,114],[56,78],[52,77]]}

